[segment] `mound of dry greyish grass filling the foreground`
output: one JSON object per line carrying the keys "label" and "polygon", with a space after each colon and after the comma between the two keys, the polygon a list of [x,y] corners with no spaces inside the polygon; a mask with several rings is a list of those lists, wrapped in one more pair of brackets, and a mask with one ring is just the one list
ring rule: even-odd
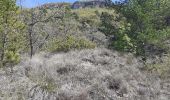
{"label": "mound of dry greyish grass filling the foreground", "polygon": [[107,49],[23,57],[0,70],[0,100],[170,100],[170,80],[132,54]]}

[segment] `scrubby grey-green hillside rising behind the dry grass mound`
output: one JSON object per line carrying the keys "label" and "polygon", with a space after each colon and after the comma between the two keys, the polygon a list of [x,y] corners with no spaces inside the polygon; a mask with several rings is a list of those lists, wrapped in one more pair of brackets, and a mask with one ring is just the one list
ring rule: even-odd
{"label": "scrubby grey-green hillside rising behind the dry grass mound", "polygon": [[[69,9],[68,5],[66,5],[66,8],[41,6],[23,10],[22,16],[29,26],[25,33],[29,34],[28,30],[32,27],[32,41],[35,41],[33,52],[36,53],[43,50],[55,52],[65,51],[68,48],[89,48],[92,46],[91,44],[97,47],[108,47],[110,36],[106,36],[99,30],[102,27],[101,17],[103,13],[108,13],[115,20],[119,18],[113,23],[115,29],[122,26],[123,18],[119,17],[119,14],[114,10],[106,8]],[[33,22],[30,17],[31,14],[35,17]],[[61,47],[63,44],[67,45],[66,48]]]}

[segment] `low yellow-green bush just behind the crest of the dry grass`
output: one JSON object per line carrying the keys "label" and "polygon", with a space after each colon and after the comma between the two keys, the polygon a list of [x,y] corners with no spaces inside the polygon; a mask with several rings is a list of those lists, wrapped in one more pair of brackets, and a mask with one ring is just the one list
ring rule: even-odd
{"label": "low yellow-green bush just behind the crest of the dry grass", "polygon": [[74,49],[92,49],[95,48],[95,44],[85,38],[76,38],[74,36],[66,36],[62,39],[53,39],[46,45],[46,50],[49,52],[64,51]]}

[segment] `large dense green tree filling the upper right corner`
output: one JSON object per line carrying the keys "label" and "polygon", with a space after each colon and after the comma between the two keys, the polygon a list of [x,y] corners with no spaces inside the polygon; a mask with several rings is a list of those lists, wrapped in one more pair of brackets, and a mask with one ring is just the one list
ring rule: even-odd
{"label": "large dense green tree filling the upper right corner", "polygon": [[145,55],[145,45],[161,44],[163,38],[169,36],[165,31],[168,30],[165,23],[168,10],[165,9],[169,3],[167,0],[129,0],[117,9],[130,23],[130,30],[125,33],[132,40],[136,54]]}

